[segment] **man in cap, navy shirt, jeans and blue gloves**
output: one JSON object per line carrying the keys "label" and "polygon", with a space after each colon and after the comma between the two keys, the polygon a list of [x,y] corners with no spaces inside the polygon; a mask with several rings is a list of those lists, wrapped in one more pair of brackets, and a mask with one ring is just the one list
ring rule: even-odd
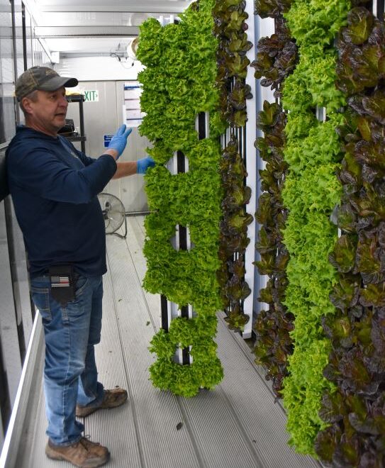
{"label": "man in cap, navy shirt, jeans and blue gloves", "polygon": [[100,341],[106,239],[96,195],[111,178],[145,174],[155,163],[150,157],[116,162],[131,132],[125,125],[98,159],[57,135],[65,125],[65,87],[77,83],[47,67],[32,67],[18,78],[16,97],[26,124],[16,129],[6,157],[45,333],[45,452],[77,467],[99,467],[108,462],[108,449],[82,436],[84,425],[75,414],[120,406],[127,391],[106,390],[97,380],[94,345]]}

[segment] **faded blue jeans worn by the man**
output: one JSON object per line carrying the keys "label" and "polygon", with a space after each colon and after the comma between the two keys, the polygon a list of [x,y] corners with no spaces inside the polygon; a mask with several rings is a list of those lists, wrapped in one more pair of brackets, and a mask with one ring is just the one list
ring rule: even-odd
{"label": "faded blue jeans worn by the man", "polygon": [[79,275],[75,299],[66,306],[52,299],[50,277],[33,278],[30,285],[45,335],[47,435],[55,445],[70,445],[84,430],[75,418],[77,403],[98,406],[104,396],[94,353],[100,341],[103,280]]}

